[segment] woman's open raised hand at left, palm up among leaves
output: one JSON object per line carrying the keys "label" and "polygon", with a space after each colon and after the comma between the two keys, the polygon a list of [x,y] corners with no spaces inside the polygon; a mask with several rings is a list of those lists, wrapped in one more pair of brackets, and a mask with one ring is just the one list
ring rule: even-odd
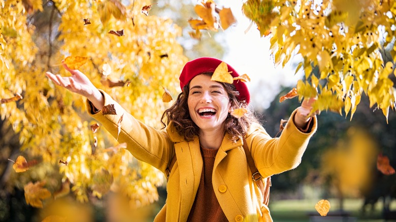
{"label": "woman's open raised hand at left, palm up among leaves", "polygon": [[61,77],[60,75],[54,75],[48,71],[46,72],[47,77],[56,85],[87,97],[96,109],[102,109],[105,104],[105,99],[102,93],[91,83],[91,81],[89,81],[88,77],[78,69],[70,69],[67,64],[63,63],[63,61],[62,65],[72,74],[71,77]]}

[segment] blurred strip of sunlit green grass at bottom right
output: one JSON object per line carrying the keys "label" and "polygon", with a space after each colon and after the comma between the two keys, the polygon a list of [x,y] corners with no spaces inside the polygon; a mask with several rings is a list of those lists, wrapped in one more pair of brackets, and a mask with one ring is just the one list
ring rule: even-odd
{"label": "blurred strip of sunlit green grass at bottom right", "polygon": [[[315,204],[318,200],[274,200],[270,203],[271,215],[274,222],[306,222],[310,221],[309,214],[319,215],[315,210]],[[329,215],[340,210],[337,199],[329,199],[331,208]],[[359,222],[382,222],[381,218],[382,202],[378,202],[373,212],[361,213],[362,200],[346,199],[344,200],[344,210],[350,213]],[[396,201],[393,201],[390,209],[396,209]]]}

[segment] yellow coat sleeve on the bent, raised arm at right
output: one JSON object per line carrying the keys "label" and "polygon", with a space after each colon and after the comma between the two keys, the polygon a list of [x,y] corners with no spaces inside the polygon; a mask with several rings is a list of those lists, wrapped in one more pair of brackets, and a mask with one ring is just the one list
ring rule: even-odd
{"label": "yellow coat sleeve on the bent, raised arm at right", "polygon": [[309,139],[316,132],[317,119],[313,117],[310,132],[302,132],[292,121],[295,113],[296,110],[277,138],[272,138],[261,126],[252,127],[248,133],[248,147],[263,177],[294,169],[301,163]]}

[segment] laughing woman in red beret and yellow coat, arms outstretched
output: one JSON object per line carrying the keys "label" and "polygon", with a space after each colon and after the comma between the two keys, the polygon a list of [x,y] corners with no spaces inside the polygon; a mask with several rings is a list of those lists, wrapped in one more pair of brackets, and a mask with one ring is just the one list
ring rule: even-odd
{"label": "laughing woman in red beret and yellow coat, arms outstretched", "polygon": [[[239,119],[230,115],[249,104],[250,94],[242,81],[211,81],[220,63],[203,57],[185,64],[179,78],[182,93],[162,116],[166,130],[127,114],[78,70],[63,65],[72,77],[46,74],[55,84],[87,97],[88,112],[115,137],[118,120],[125,114],[118,141],[126,142],[137,159],[166,172],[176,155],[167,203],[155,221],[272,221],[252,179],[242,137],[262,177],[295,168],[316,131],[316,117],[309,116],[313,100],[296,108],[280,137],[271,138],[251,113]],[[229,65],[228,71],[239,76]],[[117,115],[98,112],[108,104],[114,104]]]}

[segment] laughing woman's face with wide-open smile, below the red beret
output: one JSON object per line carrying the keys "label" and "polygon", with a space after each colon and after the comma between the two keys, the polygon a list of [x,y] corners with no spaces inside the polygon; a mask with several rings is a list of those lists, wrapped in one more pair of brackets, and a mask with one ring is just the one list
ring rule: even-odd
{"label": "laughing woman's face with wide-open smile, below the red beret", "polygon": [[231,106],[223,85],[208,75],[194,77],[189,85],[188,109],[200,130],[223,130]]}

